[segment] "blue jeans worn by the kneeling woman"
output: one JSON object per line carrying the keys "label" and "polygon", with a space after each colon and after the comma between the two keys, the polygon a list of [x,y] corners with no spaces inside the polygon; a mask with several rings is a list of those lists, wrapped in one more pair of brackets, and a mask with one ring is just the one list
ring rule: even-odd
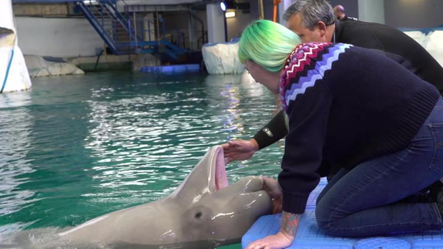
{"label": "blue jeans worn by the kneeling woman", "polygon": [[320,228],[333,236],[439,230],[435,203],[400,201],[443,177],[443,99],[409,145],[342,169],[317,199]]}

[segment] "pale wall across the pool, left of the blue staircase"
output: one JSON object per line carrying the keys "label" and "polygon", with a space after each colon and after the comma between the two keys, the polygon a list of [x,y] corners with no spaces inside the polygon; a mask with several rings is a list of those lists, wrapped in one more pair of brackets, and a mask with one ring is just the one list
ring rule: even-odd
{"label": "pale wall across the pool, left of the blue staircase", "polygon": [[94,56],[104,46],[85,18],[16,17],[15,21],[23,54]]}

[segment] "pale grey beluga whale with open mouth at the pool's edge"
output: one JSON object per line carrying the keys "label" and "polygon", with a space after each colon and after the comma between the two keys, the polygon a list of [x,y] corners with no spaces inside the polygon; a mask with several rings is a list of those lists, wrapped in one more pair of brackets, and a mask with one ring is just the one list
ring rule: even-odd
{"label": "pale grey beluga whale with open mouth at the pool's edge", "polygon": [[59,235],[131,248],[206,249],[240,241],[258,217],[271,212],[262,178],[228,185],[223,148],[213,146],[169,196],[102,215]]}

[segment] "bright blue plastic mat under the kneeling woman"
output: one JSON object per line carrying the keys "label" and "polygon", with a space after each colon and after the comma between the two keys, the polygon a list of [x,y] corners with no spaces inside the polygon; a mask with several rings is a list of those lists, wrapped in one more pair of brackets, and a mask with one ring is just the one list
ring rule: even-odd
{"label": "bright blue plastic mat under the kneeling woman", "polygon": [[[317,188],[311,193],[306,206],[306,211],[302,215],[299,223],[299,229],[297,231],[296,239],[294,239],[291,246],[287,248],[291,249],[352,249],[354,245],[362,239],[365,240],[365,244],[379,243],[384,239],[381,237],[374,238],[345,238],[345,237],[333,237],[326,235],[317,226],[315,220],[315,201],[317,196],[323,190],[326,185],[326,181],[322,180]],[[281,213],[274,215],[265,215],[260,217],[246,232],[242,238],[242,247],[246,248],[251,242],[266,237],[267,235],[276,234],[280,229]],[[442,231],[426,231],[416,233],[405,233],[389,236],[389,238],[395,238],[397,241],[392,242],[392,239],[386,240],[383,246],[371,246],[365,248],[383,249],[397,248],[397,249],[443,249],[443,230]],[[407,241],[408,243],[403,243]],[[358,245],[358,244],[357,244]]]}

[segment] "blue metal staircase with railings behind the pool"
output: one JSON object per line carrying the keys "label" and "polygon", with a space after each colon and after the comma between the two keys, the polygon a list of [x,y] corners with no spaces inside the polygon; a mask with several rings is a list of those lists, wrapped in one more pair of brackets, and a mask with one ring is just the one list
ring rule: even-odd
{"label": "blue metal staircase with railings behind the pool", "polygon": [[[115,0],[77,1],[76,5],[113,54],[166,54],[177,60],[187,52],[166,39],[158,37],[157,40],[151,40],[151,36],[144,38],[145,32],[153,32],[143,28],[146,20],[137,19],[135,13],[132,17],[128,13],[120,13]],[[154,20],[147,20],[148,27],[150,22]],[[162,37],[165,37],[165,31],[162,32]]]}

